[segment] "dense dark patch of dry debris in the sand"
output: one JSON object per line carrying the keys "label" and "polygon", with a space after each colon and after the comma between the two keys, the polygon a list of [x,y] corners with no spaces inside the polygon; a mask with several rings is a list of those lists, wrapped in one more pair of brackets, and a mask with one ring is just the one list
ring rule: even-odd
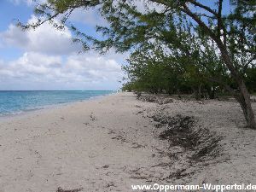
{"label": "dense dark patch of dry debris in the sand", "polygon": [[[174,117],[156,113],[152,116],[156,127],[166,127],[159,137],[170,142],[170,147],[181,147],[191,150],[191,160],[199,160],[206,156],[216,156],[218,142],[221,137],[205,128],[195,126],[195,118],[177,114]],[[213,153],[213,151],[215,151]]]}

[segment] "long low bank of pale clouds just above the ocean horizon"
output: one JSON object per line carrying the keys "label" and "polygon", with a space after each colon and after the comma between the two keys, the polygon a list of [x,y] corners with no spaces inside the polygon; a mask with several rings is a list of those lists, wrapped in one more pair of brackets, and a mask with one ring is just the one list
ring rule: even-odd
{"label": "long low bank of pale clouds just above the ocean horizon", "polygon": [[[38,84],[42,89],[116,89],[122,78],[121,67],[114,58],[96,54],[61,56],[26,52],[15,61],[0,61],[0,84]],[[15,85],[13,85],[14,87]],[[33,89],[27,87],[26,90]],[[18,89],[18,88],[14,88]]]}

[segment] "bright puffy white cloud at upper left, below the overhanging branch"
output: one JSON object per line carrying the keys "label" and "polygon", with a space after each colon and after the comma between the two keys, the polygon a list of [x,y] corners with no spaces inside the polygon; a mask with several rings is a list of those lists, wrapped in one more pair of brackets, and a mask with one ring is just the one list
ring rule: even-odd
{"label": "bright puffy white cloud at upper left, below the overhanging branch", "polygon": [[[28,23],[37,20],[32,16]],[[8,30],[0,33],[3,43],[25,51],[34,51],[51,55],[67,55],[72,52],[78,52],[81,47],[79,44],[72,43],[72,34],[67,29],[56,30],[49,23],[38,26],[36,30],[23,32],[19,27],[10,24]]]}

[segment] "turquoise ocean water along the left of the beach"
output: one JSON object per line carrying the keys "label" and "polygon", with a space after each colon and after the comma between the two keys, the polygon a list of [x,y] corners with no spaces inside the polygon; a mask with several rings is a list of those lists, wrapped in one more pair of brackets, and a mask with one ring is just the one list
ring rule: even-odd
{"label": "turquoise ocean water along the left of the beach", "polygon": [[113,90],[0,90],[0,116],[106,96]]}

